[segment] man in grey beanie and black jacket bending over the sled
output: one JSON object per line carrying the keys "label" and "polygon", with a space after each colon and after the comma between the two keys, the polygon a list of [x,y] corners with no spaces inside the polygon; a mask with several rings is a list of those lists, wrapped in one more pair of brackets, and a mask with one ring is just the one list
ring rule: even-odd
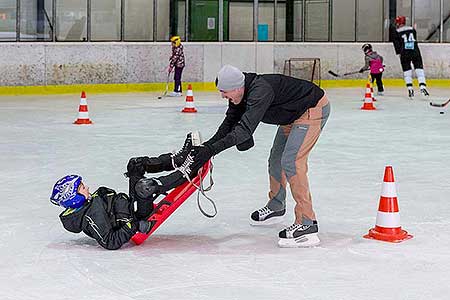
{"label": "man in grey beanie and black jacket bending over the sled", "polygon": [[289,182],[296,201],[295,222],[279,233],[280,247],[307,247],[320,243],[307,176],[309,152],[328,119],[325,92],[314,83],[280,74],[242,73],[226,65],[216,79],[228,100],[225,119],[216,134],[194,147],[193,168],[232,146],[245,151],[254,144],[260,122],[278,125],[269,157],[269,202],[250,217],[252,225],[279,221],[285,214]]}

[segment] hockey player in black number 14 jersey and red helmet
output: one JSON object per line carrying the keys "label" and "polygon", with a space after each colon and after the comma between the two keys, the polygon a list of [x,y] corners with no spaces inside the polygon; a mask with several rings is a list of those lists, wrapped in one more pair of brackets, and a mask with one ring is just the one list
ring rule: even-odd
{"label": "hockey player in black number 14 jersey and red helmet", "polygon": [[422,55],[417,44],[416,30],[412,26],[406,26],[406,17],[404,16],[395,18],[395,25],[397,29],[394,32],[393,43],[395,53],[400,56],[400,63],[408,88],[408,96],[410,98],[414,97],[411,63],[416,71],[420,92],[423,96],[429,96],[423,70]]}

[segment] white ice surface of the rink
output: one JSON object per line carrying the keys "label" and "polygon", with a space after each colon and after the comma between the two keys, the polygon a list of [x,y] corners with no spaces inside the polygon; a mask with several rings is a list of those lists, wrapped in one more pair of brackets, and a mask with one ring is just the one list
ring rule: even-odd
{"label": "white ice surface of the rink", "polygon": [[[267,159],[276,127],[261,124],[255,147],[214,159],[214,219],[188,199],[143,245],[107,251],[66,232],[49,202],[56,179],[78,173],[93,192],[127,192],[132,156],[178,149],[185,133],[209,138],[226,101],[184,97],[87,95],[94,125],[76,126],[78,95],[0,98],[0,299],[449,299],[450,89],[410,101],[388,89],[376,111],[361,111],[364,90],[328,90],[330,119],[309,161],[322,244],[280,249],[284,225],[251,227],[267,201]],[[384,167],[392,165],[400,244],[363,239],[375,225]],[[204,202],[206,208],[207,203]]]}

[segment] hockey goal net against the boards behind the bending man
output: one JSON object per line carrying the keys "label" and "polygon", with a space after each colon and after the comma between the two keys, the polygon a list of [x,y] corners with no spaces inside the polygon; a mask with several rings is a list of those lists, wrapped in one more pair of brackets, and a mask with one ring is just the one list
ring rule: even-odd
{"label": "hockey goal net against the boards behind the bending man", "polygon": [[308,80],[320,86],[320,58],[290,58],[284,61],[283,74]]}

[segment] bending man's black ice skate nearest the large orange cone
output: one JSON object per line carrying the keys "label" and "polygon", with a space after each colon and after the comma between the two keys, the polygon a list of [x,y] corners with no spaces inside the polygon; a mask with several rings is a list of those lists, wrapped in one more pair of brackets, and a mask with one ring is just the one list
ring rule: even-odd
{"label": "bending man's black ice skate nearest the large orange cone", "polygon": [[317,221],[311,225],[292,224],[278,234],[278,246],[282,248],[312,247],[320,244]]}

